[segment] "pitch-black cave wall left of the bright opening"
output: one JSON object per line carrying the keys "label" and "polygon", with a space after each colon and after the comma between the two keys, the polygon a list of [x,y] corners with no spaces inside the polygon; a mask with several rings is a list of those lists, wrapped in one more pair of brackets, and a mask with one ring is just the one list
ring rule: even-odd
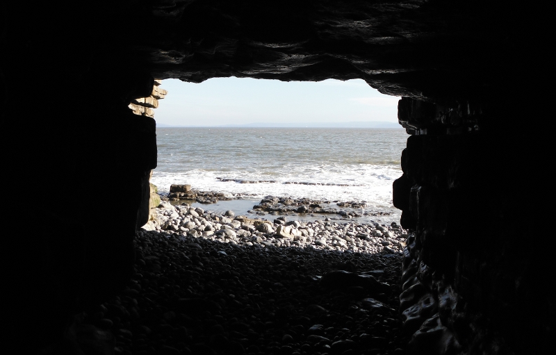
{"label": "pitch-black cave wall left of the bright opening", "polygon": [[152,93],[153,78],[120,55],[117,36],[95,38],[112,15],[63,1],[3,8],[7,338],[21,354],[123,288],[148,219],[156,127],[127,106]]}

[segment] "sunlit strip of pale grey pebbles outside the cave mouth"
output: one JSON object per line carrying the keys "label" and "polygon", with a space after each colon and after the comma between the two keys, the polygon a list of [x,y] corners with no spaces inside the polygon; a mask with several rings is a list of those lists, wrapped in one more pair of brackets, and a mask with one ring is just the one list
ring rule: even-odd
{"label": "sunlit strip of pale grey pebbles outside the cave mouth", "polygon": [[[263,200],[265,201],[265,200]],[[339,223],[338,223],[339,222]],[[402,254],[407,232],[393,222],[390,226],[332,221],[328,218],[315,222],[289,221],[277,217],[273,221],[235,216],[228,210],[218,215],[188,204],[172,206],[162,201],[156,217],[143,228],[165,231],[181,237],[206,238],[252,247],[315,247],[337,251],[366,253],[387,252]]]}

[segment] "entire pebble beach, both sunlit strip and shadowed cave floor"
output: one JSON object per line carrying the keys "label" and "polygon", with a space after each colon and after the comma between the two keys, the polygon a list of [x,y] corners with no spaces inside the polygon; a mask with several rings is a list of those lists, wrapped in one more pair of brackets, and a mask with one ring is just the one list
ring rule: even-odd
{"label": "entire pebble beach, both sunlit strip and shadowed cave floor", "polygon": [[126,289],[81,321],[115,354],[403,354],[400,227],[156,210]]}

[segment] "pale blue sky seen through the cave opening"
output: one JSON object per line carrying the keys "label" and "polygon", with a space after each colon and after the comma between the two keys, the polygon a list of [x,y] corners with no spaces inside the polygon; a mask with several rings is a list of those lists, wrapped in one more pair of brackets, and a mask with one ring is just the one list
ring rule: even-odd
{"label": "pale blue sky seen through the cave opening", "polygon": [[157,124],[222,126],[244,124],[398,123],[398,100],[365,81],[277,81],[214,78],[202,83],[163,80]]}

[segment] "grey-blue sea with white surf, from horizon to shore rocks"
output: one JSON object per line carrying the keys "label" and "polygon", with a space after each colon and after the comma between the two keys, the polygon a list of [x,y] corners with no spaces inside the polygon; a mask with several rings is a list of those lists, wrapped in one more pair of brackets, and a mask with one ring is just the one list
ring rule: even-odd
{"label": "grey-blue sea with white surf, from horizon to shore rocks", "polygon": [[401,128],[158,128],[158,167],[151,182],[161,195],[172,183],[188,183],[195,190],[241,197],[198,204],[215,212],[250,215],[254,204],[272,195],[330,206],[364,201],[357,212],[375,216],[356,217],[360,222],[399,223],[392,183],[402,175],[407,137]]}

